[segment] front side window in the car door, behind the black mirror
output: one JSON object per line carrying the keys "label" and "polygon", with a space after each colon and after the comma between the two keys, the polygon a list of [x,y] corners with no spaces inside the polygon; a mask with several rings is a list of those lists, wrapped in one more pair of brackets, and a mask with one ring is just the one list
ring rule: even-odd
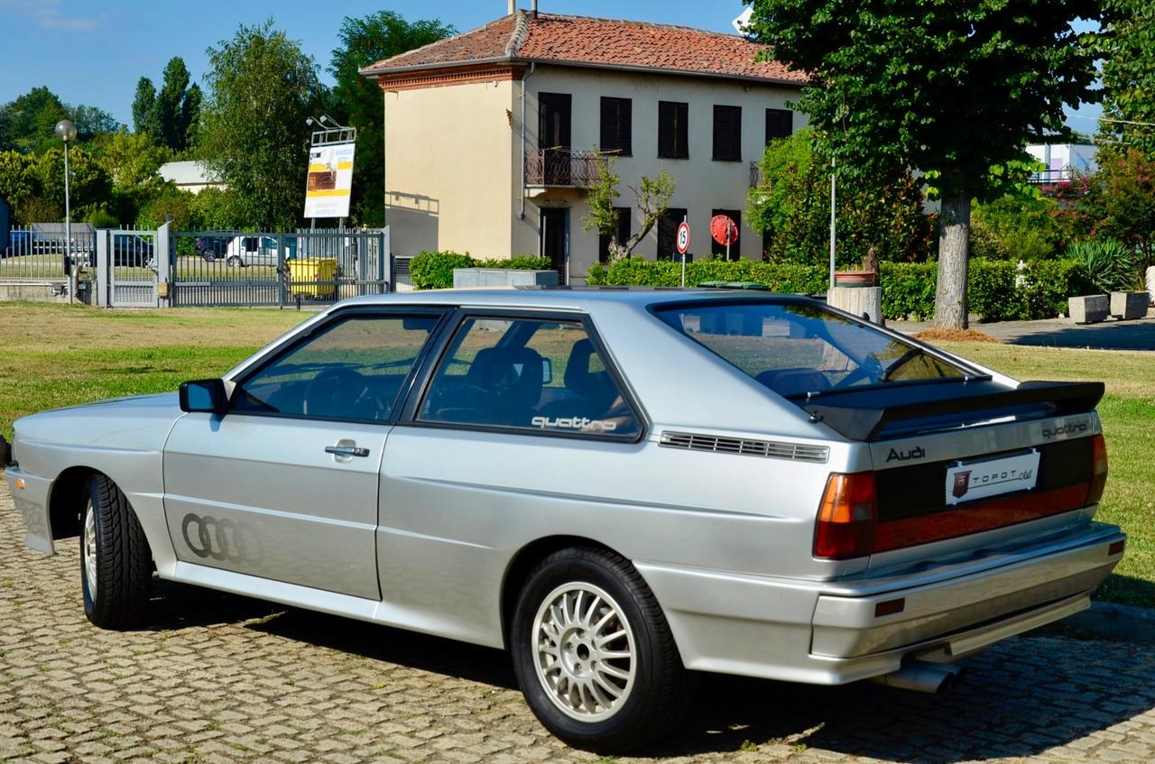
{"label": "front side window in the car door, behind the black mirror", "polygon": [[388,419],[439,317],[335,321],[245,380],[232,409],[316,419]]}

